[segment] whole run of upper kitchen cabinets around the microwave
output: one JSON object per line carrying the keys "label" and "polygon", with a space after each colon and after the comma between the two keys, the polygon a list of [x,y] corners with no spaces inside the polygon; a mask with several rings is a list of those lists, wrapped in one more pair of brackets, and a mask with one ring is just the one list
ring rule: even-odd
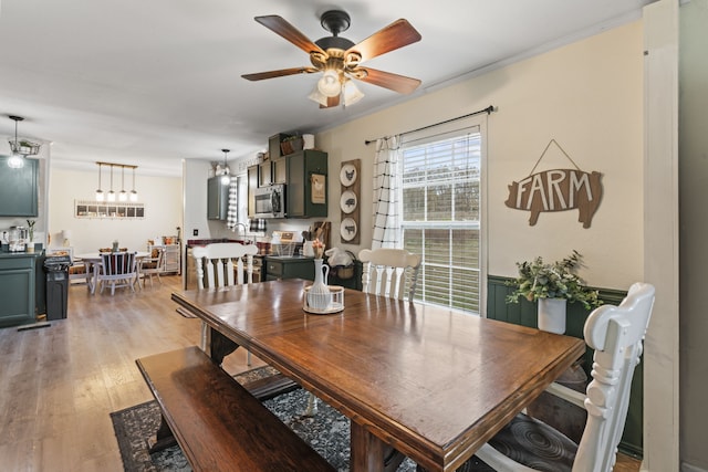
{"label": "whole run of upper kitchen cabinets around the microwave", "polygon": [[252,166],[248,169],[249,217],[253,217],[253,190],[272,183],[285,185],[288,218],[326,217],[326,179],[327,154],[321,150],[300,150]]}

